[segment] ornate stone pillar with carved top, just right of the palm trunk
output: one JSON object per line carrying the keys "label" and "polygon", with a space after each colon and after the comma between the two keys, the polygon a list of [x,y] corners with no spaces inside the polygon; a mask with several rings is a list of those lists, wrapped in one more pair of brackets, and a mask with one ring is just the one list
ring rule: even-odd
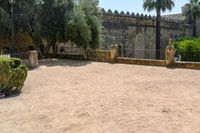
{"label": "ornate stone pillar with carved top, just right of the palm trunk", "polygon": [[169,43],[165,49],[165,61],[166,61],[166,66],[172,67],[174,66],[174,46],[173,46],[173,40],[169,39]]}

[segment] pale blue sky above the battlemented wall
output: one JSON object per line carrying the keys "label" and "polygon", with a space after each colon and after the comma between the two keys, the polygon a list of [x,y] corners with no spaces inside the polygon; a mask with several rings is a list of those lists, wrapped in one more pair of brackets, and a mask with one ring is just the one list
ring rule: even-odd
{"label": "pale blue sky above the battlemented wall", "polygon": [[[181,13],[181,7],[188,3],[189,0],[174,0],[175,7],[171,12],[165,12],[163,14],[176,14]],[[99,0],[99,6],[104,8],[106,11],[111,9],[113,12],[118,10],[118,12],[129,11],[136,13],[143,13],[143,14],[150,14],[156,15],[155,12],[145,12],[143,9],[143,0]]]}

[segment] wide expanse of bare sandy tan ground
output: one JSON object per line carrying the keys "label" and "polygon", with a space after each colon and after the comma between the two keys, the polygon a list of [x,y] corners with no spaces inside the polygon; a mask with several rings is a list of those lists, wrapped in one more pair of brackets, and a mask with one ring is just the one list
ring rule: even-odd
{"label": "wide expanse of bare sandy tan ground", "polygon": [[0,133],[200,133],[200,71],[41,61],[0,100]]}

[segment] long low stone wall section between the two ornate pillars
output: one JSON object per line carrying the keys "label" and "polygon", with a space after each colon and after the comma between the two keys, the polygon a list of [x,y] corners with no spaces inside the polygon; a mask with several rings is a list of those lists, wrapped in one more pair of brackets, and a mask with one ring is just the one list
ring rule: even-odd
{"label": "long low stone wall section between the two ornate pillars", "polygon": [[116,62],[122,64],[134,64],[134,65],[166,66],[165,60],[146,60],[146,59],[118,57],[116,59]]}

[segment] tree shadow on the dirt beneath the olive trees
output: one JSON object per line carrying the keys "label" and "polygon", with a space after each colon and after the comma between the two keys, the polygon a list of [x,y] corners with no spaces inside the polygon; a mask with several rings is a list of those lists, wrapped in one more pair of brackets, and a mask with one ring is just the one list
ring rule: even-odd
{"label": "tree shadow on the dirt beneath the olive trees", "polygon": [[71,60],[71,59],[42,59],[39,61],[39,67],[55,67],[55,66],[62,66],[62,67],[81,67],[90,64],[90,61],[86,60]]}

